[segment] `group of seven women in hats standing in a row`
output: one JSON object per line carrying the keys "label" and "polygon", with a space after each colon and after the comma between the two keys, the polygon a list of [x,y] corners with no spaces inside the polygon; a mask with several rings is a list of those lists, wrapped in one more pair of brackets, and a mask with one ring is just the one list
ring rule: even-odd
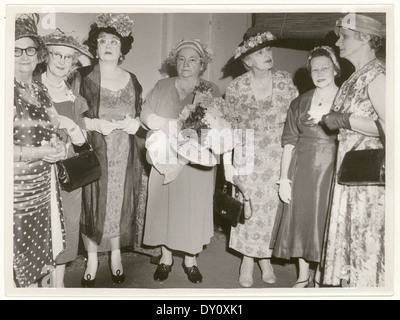
{"label": "group of seven women in hats standing in a row", "polygon": [[[361,135],[364,149],[381,146],[374,121],[385,121],[385,67],[375,55],[381,25],[355,17],[354,26],[335,27],[340,56],[356,70],[340,89],[330,47],[309,53],[315,89],[300,96],[290,74],[273,68],[278,40],[270,32],[250,28],[236,49],[247,72],[229,84],[224,114],[234,128],[255,132],[251,174],[243,174],[235,152],[224,155],[226,180],[238,176],[252,201],[251,217],[231,229],[229,242],[243,256],[243,287],[253,284],[255,260],[263,281],[276,282],[272,256],[299,259],[294,287],[310,285],[310,263],[319,264],[316,286],[339,286],[348,266],[357,286],[384,285],[384,187],[335,180],[335,165]],[[196,257],[213,236],[215,169],[188,164],[166,184],[146,163],[144,146],[147,130],[170,134],[200,83],[221,96],[201,78],[211,49],[198,39],[180,41],[168,58],[177,76],[158,81],[143,102],[138,79],[120,67],[133,42],[128,15],[98,15],[85,44],[61,30],[40,37],[37,22],[37,15],[22,15],[15,29],[15,284],[38,285],[55,269],[56,287],[63,287],[80,234],[87,250],[83,287],[95,285],[98,252],[110,252],[112,280],[122,283],[125,246],[160,255],[155,281],[168,278],[181,251],[188,280],[201,282]],[[80,56],[92,64],[77,69]],[[60,190],[54,163],[87,140],[100,180]]]}

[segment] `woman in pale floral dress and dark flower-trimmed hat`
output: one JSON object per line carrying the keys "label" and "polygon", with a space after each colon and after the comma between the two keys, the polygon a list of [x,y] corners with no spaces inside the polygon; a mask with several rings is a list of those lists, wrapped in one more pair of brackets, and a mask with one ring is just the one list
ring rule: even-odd
{"label": "woman in pale floral dress and dark flower-trimmed hat", "polygon": [[[276,38],[264,30],[250,28],[236,51],[250,70],[232,81],[226,92],[227,118],[236,129],[254,130],[254,153],[237,157],[234,165],[225,164],[226,180],[233,182],[239,175],[252,201],[252,216],[231,229],[229,246],[243,254],[239,283],[253,284],[254,259],[259,259],[263,281],[275,283],[270,263],[272,251],[269,241],[279,203],[276,182],[282,154],[281,136],[290,102],[298,92],[290,74],[273,69],[271,46]],[[247,133],[247,132],[246,132]],[[251,150],[246,145],[247,151]],[[224,162],[231,155],[224,155]],[[246,172],[243,159],[254,163],[254,170]]]}

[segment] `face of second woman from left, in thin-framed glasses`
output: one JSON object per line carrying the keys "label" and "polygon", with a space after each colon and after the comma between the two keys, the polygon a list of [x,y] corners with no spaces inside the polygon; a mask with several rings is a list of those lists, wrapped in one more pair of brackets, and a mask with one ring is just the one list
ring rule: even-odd
{"label": "face of second woman from left, in thin-framed glasses", "polygon": [[71,71],[75,61],[75,49],[65,46],[49,46],[47,72],[64,78]]}

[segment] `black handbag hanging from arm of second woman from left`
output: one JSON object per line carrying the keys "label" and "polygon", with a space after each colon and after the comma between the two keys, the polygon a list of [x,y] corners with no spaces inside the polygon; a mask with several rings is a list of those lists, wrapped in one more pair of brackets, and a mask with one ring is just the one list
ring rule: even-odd
{"label": "black handbag hanging from arm of second woman from left", "polygon": [[[86,139],[86,137],[85,137]],[[101,177],[100,162],[89,141],[75,146],[75,156],[57,162],[58,181],[61,189],[71,192]]]}

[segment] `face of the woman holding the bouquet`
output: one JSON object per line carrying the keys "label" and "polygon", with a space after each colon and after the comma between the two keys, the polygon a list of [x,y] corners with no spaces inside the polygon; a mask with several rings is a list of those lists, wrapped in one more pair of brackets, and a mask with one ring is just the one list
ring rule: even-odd
{"label": "face of the woman holding the bouquet", "polygon": [[192,48],[183,48],[176,57],[176,70],[180,78],[198,78],[202,71],[199,53]]}

